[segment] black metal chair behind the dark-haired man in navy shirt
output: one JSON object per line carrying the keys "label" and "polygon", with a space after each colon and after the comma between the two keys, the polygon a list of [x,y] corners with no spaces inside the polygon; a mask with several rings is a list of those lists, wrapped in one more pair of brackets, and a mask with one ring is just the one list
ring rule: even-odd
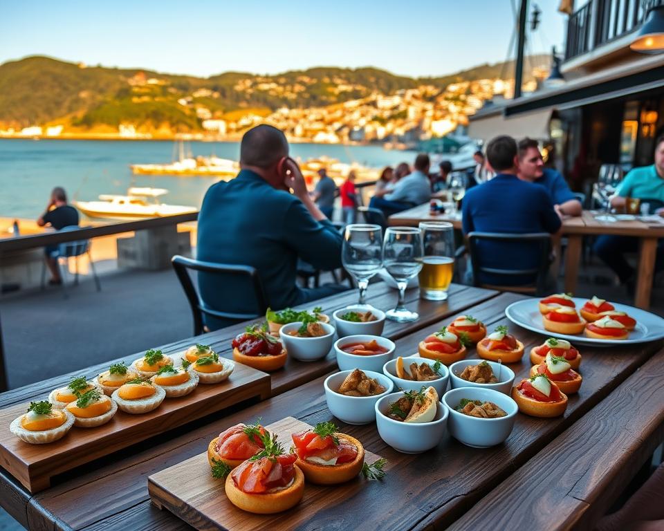
{"label": "black metal chair behind the dark-haired man in navy shirt", "polygon": [[[537,268],[519,269],[519,257],[515,257],[515,268],[497,269],[490,268],[483,261],[483,257],[478,248],[479,241],[493,241],[498,243],[531,243],[533,246],[537,245],[540,248],[540,263]],[[546,290],[546,278],[548,268],[550,265],[551,254],[551,234],[546,232],[534,232],[527,234],[504,234],[501,232],[470,232],[468,234],[468,248],[470,251],[470,261],[472,263],[472,281],[473,285],[479,288],[489,288],[500,291],[515,291],[522,293],[533,293],[535,295],[544,295]],[[534,284],[526,286],[509,286],[509,285],[495,285],[486,284],[480,281],[482,274],[492,274],[504,276],[506,279],[510,277],[520,277],[525,275],[533,275],[536,277]]]}

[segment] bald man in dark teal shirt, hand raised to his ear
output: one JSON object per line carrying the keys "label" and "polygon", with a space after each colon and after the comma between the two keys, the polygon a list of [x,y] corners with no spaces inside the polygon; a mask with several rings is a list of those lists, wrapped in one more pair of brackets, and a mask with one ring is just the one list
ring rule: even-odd
{"label": "bald man in dark teal shirt, hand raised to his ear", "polygon": [[[341,267],[342,236],[309,196],[288,141],[269,125],[242,137],[236,178],[208,189],[199,214],[196,258],[251,265],[258,270],[268,304],[275,309],[304,304],[347,289],[331,284],[305,289],[295,284],[297,259],[315,268]],[[292,190],[292,192],[291,192]],[[211,308],[255,310],[251,287],[214,274],[199,274],[199,290]],[[208,317],[211,330],[230,322]]]}

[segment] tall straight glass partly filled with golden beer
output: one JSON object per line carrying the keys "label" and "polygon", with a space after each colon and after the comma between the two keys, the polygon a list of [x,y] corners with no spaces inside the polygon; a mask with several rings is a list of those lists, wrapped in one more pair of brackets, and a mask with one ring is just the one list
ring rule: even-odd
{"label": "tall straight glass partly filled with golden beer", "polygon": [[423,221],[420,230],[424,245],[420,297],[444,301],[454,273],[454,226],[444,221]]}

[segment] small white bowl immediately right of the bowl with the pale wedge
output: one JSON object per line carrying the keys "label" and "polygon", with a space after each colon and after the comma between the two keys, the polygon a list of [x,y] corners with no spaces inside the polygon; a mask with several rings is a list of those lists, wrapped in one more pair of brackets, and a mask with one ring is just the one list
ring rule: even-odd
{"label": "small white bowl immediately right of the bowl with the pale wedge", "polygon": [[[507,413],[499,418],[477,418],[459,413],[455,408],[462,398],[493,402]],[[508,395],[481,387],[459,387],[443,395],[443,404],[450,411],[450,435],[466,446],[488,448],[503,443],[512,432],[519,407]]]}

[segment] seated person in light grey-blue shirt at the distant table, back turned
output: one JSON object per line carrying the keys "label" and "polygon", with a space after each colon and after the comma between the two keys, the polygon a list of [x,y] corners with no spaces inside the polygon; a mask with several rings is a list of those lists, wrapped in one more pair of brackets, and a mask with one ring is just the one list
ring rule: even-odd
{"label": "seated person in light grey-blue shirt at the distant table, back turned", "polygon": [[420,153],[415,158],[412,173],[398,180],[393,189],[376,192],[371,198],[369,207],[382,210],[387,217],[427,203],[431,199],[429,165],[429,156],[426,153]]}

